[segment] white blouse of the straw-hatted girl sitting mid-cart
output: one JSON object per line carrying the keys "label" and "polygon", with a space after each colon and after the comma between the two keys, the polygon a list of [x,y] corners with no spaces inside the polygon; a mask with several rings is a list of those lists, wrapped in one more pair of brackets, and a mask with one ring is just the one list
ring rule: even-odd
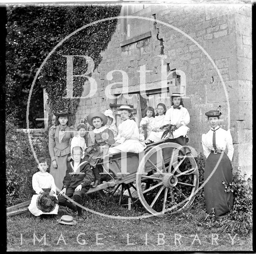
{"label": "white blouse of the straw-hatted girl sitting mid-cart", "polygon": [[134,120],[127,119],[118,126],[118,135],[116,136],[116,142],[122,144],[125,140],[139,140],[139,129]]}

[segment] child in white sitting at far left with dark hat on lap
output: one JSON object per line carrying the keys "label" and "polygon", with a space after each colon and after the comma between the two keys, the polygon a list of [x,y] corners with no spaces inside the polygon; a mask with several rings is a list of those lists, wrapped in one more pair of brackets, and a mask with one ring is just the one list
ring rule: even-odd
{"label": "child in white sitting at far left with dark hat on lap", "polygon": [[48,160],[40,158],[38,172],[32,176],[32,187],[36,192],[32,196],[28,210],[36,216],[36,222],[39,222],[42,214],[58,214],[58,198],[56,196],[56,186],[54,178],[47,172]]}

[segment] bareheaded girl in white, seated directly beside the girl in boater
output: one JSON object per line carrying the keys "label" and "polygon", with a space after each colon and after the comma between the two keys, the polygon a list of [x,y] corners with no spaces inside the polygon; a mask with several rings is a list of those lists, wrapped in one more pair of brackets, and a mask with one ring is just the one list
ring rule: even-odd
{"label": "bareheaded girl in white, seated directly beside the girl in boater", "polygon": [[148,137],[148,140],[152,142],[158,142],[161,140],[164,130],[160,130],[160,127],[164,125],[164,117],[166,113],[166,106],[164,103],[158,103],[156,107],[157,114],[151,123],[152,130]]}

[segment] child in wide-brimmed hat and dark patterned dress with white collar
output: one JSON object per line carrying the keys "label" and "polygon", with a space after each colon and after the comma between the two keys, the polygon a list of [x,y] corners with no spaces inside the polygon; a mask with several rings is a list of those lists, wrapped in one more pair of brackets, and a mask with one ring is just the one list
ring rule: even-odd
{"label": "child in wide-brimmed hat and dark patterned dress with white collar", "polygon": [[110,130],[106,123],[107,117],[101,112],[93,112],[87,116],[87,122],[94,127],[94,142],[88,144],[88,148],[85,151],[85,155],[90,156],[90,164],[92,165],[92,171],[94,173],[95,181],[92,185],[95,188],[100,184],[100,169],[97,166],[97,161],[100,156],[108,154],[109,147],[114,144],[114,134]]}

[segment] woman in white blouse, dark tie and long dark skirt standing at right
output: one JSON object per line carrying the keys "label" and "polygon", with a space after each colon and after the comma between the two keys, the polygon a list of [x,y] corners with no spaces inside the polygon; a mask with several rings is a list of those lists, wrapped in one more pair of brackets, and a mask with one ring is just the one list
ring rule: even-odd
{"label": "woman in white blouse, dark tie and long dark skirt standing at right", "polygon": [[206,134],[202,135],[202,146],[206,157],[204,168],[206,210],[208,214],[220,217],[233,207],[233,193],[225,192],[224,183],[229,185],[233,180],[231,160],[234,148],[230,130],[226,131],[218,125],[220,110],[210,110],[205,114],[208,116],[211,127]]}

